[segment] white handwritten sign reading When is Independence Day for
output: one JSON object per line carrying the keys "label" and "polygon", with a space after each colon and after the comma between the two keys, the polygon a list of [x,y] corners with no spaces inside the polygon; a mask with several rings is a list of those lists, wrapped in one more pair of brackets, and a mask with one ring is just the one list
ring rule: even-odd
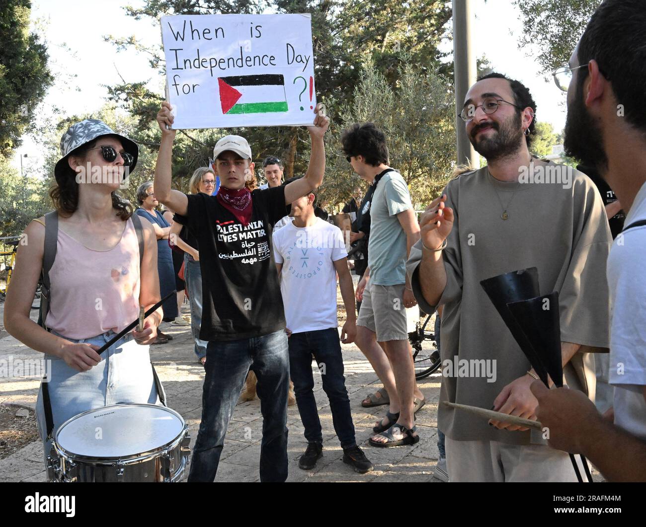
{"label": "white handwritten sign reading When is Independence Day for", "polygon": [[311,17],[161,17],[176,129],[311,125]]}

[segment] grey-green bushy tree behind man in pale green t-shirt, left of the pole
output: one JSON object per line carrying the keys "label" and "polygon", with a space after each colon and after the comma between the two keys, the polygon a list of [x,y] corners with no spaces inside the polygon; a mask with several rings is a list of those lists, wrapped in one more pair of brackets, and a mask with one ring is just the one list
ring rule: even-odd
{"label": "grey-green bushy tree behind man in pale green t-shirt, left of the pole", "polygon": [[422,72],[410,63],[399,67],[397,88],[368,62],[360,71],[353,103],[340,109],[328,140],[328,169],[321,198],[342,203],[360,184],[342,154],[342,132],[353,123],[370,121],[384,131],[390,165],[399,170],[416,207],[435,198],[453,168],[455,103],[452,83],[435,70]]}

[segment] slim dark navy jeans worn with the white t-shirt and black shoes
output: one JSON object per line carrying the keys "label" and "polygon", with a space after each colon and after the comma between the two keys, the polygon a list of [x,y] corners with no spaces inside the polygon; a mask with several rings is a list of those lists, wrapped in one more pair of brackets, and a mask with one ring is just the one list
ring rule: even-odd
{"label": "slim dark navy jeans worn with the white t-shirt and black shoes", "polygon": [[331,327],[318,331],[292,333],[288,342],[289,371],[294,383],[298,413],[305,427],[305,439],[310,443],[323,442],[317,401],[313,392],[313,355],[321,371],[323,390],[328,395],[332,423],[341,446],[342,448],[355,446],[357,444],[355,426],[352,423],[346,378],[343,376],[339,331],[336,327]]}

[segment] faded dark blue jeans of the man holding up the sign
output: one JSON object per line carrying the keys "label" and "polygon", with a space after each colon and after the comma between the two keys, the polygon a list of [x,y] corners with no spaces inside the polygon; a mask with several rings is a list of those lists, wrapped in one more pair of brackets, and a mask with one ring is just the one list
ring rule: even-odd
{"label": "faded dark blue jeans of the man holding up the sign", "polygon": [[284,330],[242,340],[209,341],[202,391],[202,422],[193,449],[189,481],[212,482],[229,420],[251,369],[262,413],[260,481],[287,479],[289,352]]}

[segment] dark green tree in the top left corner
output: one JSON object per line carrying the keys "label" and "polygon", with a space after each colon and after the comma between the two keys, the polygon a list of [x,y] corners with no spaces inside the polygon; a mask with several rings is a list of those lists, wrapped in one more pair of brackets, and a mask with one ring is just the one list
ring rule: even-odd
{"label": "dark green tree in the top left corner", "polygon": [[0,3],[0,156],[8,158],[34,118],[53,78],[47,47],[29,31],[31,2]]}

